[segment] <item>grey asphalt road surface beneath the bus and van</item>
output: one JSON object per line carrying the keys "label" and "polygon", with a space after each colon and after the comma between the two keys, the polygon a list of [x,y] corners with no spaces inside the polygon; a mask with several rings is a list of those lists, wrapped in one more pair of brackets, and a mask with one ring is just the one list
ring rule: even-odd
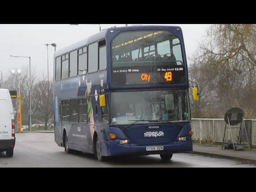
{"label": "grey asphalt road surface beneath the bus and van", "polygon": [[173,154],[172,160],[162,162],[159,155],[115,157],[98,162],[92,154],[67,154],[54,142],[54,133],[16,134],[14,156],[0,153],[0,167],[256,167],[224,158],[194,154]]}

